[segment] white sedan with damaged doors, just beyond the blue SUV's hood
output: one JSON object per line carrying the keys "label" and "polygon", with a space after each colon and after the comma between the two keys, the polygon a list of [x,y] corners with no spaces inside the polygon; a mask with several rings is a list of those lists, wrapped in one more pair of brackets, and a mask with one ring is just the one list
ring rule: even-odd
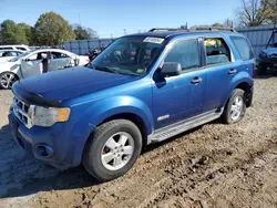
{"label": "white sedan with damaged doors, just beyond the blue SUV's hood", "polygon": [[42,74],[42,60],[45,59],[48,60],[48,72],[89,63],[88,56],[76,55],[65,50],[40,49],[28,51],[8,62],[0,63],[0,86],[11,89],[18,80]]}

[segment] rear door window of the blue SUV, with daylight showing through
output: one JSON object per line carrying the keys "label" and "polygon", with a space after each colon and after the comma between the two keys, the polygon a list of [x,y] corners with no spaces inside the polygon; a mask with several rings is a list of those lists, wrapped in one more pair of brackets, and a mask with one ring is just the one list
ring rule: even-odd
{"label": "rear door window of the blue SUV, with daylight showing through", "polygon": [[223,39],[208,38],[204,44],[207,65],[230,62],[230,51]]}

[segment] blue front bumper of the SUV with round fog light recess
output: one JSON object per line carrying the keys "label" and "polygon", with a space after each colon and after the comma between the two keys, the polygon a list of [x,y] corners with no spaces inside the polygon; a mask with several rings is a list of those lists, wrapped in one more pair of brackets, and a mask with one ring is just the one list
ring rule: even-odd
{"label": "blue front bumper of the SUV with round fog light recess", "polygon": [[[27,128],[10,110],[9,125],[16,142],[35,158],[60,169],[80,165],[81,153],[76,150],[78,138],[74,136],[74,122],[58,123],[52,127]],[[79,154],[79,155],[76,155]]]}

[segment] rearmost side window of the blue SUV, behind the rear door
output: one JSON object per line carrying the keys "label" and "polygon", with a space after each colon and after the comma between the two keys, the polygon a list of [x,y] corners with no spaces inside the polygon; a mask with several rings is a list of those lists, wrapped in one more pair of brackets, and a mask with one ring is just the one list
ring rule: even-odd
{"label": "rearmost side window of the blue SUV, behind the rear door", "polygon": [[235,44],[243,60],[252,60],[254,58],[250,44],[243,37],[232,37],[230,40]]}

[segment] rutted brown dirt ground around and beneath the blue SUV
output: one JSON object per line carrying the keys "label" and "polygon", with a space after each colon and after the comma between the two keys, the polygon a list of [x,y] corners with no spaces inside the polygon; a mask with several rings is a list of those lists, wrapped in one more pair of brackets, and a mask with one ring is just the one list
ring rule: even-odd
{"label": "rutted brown dirt ground around and beneath the blue SUV", "polygon": [[0,91],[0,207],[277,207],[277,77],[255,80],[254,106],[236,125],[204,125],[150,146],[134,168],[96,184],[82,167],[59,171],[24,152],[7,126]]}

